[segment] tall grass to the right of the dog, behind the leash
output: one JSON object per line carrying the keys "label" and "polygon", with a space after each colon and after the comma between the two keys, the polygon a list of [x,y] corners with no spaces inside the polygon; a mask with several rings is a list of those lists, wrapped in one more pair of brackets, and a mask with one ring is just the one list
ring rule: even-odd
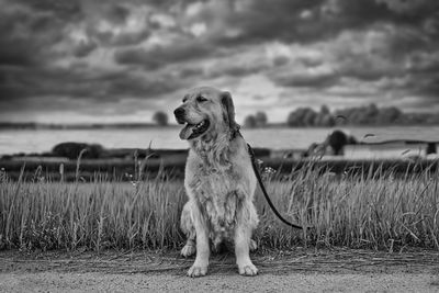
{"label": "tall grass to the right of the dog, behind the leash", "polygon": [[[309,165],[284,179],[274,177],[269,193],[277,195],[283,213],[308,227],[303,232],[305,244],[390,251],[406,246],[439,249],[438,173],[427,168],[395,177],[392,169],[372,170],[338,177]],[[295,243],[296,233],[274,223],[274,228],[267,228],[270,221],[275,219],[262,217],[263,241],[274,247]]]}

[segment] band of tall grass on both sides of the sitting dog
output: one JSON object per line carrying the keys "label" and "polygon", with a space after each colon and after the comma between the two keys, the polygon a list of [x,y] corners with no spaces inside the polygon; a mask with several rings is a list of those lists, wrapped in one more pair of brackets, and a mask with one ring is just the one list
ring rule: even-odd
{"label": "band of tall grass on both sides of the sitting dog", "polygon": [[[344,246],[399,251],[439,249],[439,179],[426,168],[395,177],[392,169],[335,176],[309,164],[289,176],[264,174],[280,212],[309,229],[284,226],[261,194],[256,205],[261,247]],[[132,182],[53,182],[0,174],[0,248],[179,248],[182,181],[159,174]],[[77,178],[80,178],[79,168]]]}

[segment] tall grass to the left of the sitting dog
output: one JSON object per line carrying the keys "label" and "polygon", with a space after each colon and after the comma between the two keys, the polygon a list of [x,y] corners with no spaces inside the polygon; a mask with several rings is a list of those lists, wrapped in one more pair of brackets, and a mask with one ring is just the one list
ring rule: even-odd
{"label": "tall grass to the left of the sitting dog", "polygon": [[177,247],[181,182],[164,176],[92,183],[0,182],[0,247],[76,249]]}

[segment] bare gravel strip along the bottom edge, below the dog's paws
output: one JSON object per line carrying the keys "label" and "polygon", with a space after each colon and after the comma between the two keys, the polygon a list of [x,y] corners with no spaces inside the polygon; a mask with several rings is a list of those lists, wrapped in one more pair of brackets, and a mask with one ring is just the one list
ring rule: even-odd
{"label": "bare gravel strip along the bottom edge, below the dog's paws", "polygon": [[215,274],[5,273],[2,292],[439,292],[429,273],[266,273],[256,278]]}

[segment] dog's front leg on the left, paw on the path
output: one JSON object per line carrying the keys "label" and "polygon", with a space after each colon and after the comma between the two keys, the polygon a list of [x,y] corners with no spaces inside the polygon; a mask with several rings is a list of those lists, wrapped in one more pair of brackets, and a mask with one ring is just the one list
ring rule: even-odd
{"label": "dog's front leg on the left, paw on the path", "polygon": [[201,215],[198,207],[194,212],[194,226],[196,234],[196,257],[192,267],[188,271],[189,277],[202,277],[207,273],[209,257],[211,253],[209,247],[209,230],[204,217]]}

